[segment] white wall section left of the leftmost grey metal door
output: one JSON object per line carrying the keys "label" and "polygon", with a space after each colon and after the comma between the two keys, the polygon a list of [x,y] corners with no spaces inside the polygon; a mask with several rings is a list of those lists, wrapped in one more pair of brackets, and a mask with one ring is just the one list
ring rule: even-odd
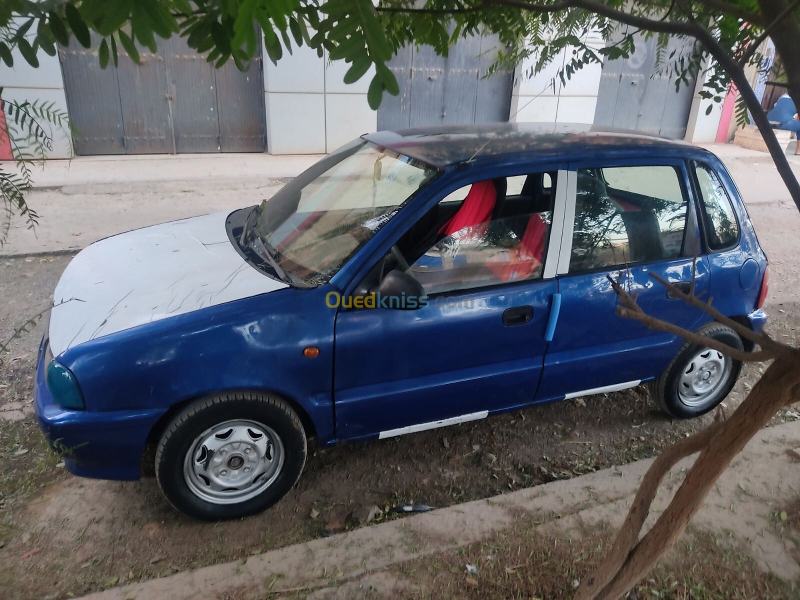
{"label": "white wall section left of the leftmost grey metal door", "polygon": [[[35,26],[34,26],[35,29]],[[61,64],[58,54],[48,56],[43,51],[37,54],[39,66],[34,68],[26,62],[25,58],[14,50],[14,67],[9,68],[5,62],[0,62],[0,86],[3,87],[2,97],[16,102],[54,102],[54,110],[66,110],[66,94],[64,94],[64,80],[61,76]],[[46,126],[44,122],[42,126]],[[70,158],[72,156],[72,142],[68,135],[60,130],[51,128],[53,134],[53,150],[48,153],[48,158]]]}

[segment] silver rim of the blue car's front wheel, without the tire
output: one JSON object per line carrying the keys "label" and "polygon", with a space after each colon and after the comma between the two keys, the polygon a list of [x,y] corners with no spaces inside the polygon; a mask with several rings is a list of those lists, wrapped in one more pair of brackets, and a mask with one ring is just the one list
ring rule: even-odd
{"label": "silver rim of the blue car's front wheel, without the tire", "polygon": [[183,459],[193,494],[212,504],[238,504],[271,486],[283,467],[283,442],[249,420],[226,421],[194,439]]}

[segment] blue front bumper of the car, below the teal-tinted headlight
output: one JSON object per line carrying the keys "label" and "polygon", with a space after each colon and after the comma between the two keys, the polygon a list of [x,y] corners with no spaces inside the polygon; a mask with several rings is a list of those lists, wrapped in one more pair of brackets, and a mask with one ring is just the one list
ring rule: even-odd
{"label": "blue front bumper of the car, below the teal-tinted headlight", "polygon": [[58,406],[45,382],[46,338],[36,366],[36,416],[50,446],[63,454],[70,473],[81,477],[133,481],[142,450],[164,410],[67,410]]}

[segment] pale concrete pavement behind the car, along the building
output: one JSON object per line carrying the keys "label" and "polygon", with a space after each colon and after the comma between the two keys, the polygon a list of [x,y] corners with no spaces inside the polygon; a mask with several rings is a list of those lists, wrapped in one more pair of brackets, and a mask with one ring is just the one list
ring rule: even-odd
{"label": "pale concrete pavement behind the car, along the building", "polygon": [[[747,204],[791,203],[769,154],[731,144],[706,147],[726,163]],[[15,219],[0,255],[80,250],[138,227],[250,206],[319,158],[178,154],[49,161],[34,170],[36,188],[29,197],[40,215],[38,226],[28,230]],[[790,162],[800,176],[800,157],[790,156]]]}

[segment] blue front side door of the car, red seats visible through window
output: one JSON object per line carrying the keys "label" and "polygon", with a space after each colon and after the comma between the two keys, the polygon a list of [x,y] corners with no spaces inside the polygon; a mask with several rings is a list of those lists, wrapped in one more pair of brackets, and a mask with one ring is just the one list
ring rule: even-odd
{"label": "blue front side door of the car, red seats visible through window", "polygon": [[[434,243],[416,256],[410,250],[416,239],[426,239],[425,231],[444,231],[442,222],[453,222],[458,206],[466,208],[463,189],[446,190],[426,203],[405,234],[387,242],[411,253],[407,272],[422,282],[426,302],[415,310],[338,310],[334,406],[339,438],[386,438],[533,401],[557,292],[550,255],[558,256],[553,248],[560,243],[565,204],[556,202],[557,209],[550,210],[550,198],[566,198],[566,177],[558,173],[558,166],[542,168],[531,180],[538,183],[538,194],[530,194],[528,186],[525,197],[518,193],[522,185],[516,186],[503,206],[506,213],[495,209],[486,227],[466,227],[445,238],[440,234],[438,240],[434,235]],[[505,189],[503,182],[503,194]],[[465,222],[464,214],[459,222]],[[526,262],[525,252],[510,258],[526,234],[532,237],[530,227],[546,236],[539,239],[538,265],[535,258]]]}

